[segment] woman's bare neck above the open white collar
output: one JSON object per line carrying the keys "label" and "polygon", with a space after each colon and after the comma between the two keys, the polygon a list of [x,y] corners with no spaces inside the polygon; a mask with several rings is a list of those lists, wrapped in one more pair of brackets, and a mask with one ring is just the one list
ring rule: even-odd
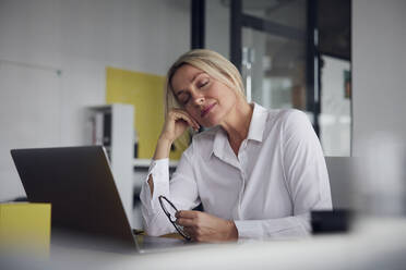
{"label": "woman's bare neck above the open white collar", "polygon": [[239,145],[248,136],[252,118],[253,107],[244,99],[238,99],[234,110],[229,113],[227,119],[220,124],[227,132],[228,140],[231,145]]}

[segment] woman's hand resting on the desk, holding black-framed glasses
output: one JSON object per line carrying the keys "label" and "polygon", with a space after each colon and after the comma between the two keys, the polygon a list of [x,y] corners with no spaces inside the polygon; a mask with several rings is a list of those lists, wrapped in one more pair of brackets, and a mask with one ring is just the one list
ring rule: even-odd
{"label": "woman's hand resting on the desk, holding black-framed glasses", "polygon": [[231,220],[224,220],[201,211],[178,211],[179,225],[196,242],[237,241],[238,231]]}

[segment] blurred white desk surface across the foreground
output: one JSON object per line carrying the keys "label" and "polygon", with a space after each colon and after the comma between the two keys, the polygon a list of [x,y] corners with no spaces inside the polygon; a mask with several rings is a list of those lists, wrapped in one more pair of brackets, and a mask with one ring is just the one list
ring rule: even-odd
{"label": "blurred white desk surface across the foreground", "polygon": [[[406,219],[358,222],[348,234],[241,241],[144,255],[51,247],[58,269],[404,269]],[[56,267],[57,269],[57,267]]]}

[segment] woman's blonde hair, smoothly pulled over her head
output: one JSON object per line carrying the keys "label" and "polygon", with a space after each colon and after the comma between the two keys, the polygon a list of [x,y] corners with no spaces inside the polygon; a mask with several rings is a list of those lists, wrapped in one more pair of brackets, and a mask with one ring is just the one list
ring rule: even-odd
{"label": "woman's blonde hair, smoothly pulled over her head", "polygon": [[238,95],[246,99],[242,78],[237,68],[215,51],[195,49],[180,56],[168,70],[165,82],[165,113],[168,113],[172,108],[182,107],[174,95],[174,88],[170,81],[177,70],[183,64],[193,65],[194,68],[207,73],[211,77],[236,90]]}

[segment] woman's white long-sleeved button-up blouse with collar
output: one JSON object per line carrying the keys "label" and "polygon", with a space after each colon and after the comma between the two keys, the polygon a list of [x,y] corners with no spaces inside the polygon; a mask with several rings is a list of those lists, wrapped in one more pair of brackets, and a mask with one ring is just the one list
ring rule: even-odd
{"label": "woman's white long-sleeved button-up blouse with collar", "polygon": [[199,204],[205,212],[234,220],[240,238],[310,233],[310,211],[332,209],[329,174],[319,139],[298,110],[266,110],[254,103],[247,139],[236,157],[226,132],[213,127],[193,137],[169,181],[168,159],[150,168],[141,191],[150,235],[175,232],[160,208],[164,195],[179,210]]}

